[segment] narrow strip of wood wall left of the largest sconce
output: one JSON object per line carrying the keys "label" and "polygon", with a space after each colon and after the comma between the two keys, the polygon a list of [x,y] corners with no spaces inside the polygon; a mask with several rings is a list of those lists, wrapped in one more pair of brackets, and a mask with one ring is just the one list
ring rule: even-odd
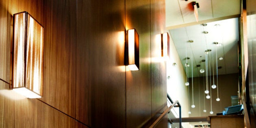
{"label": "narrow strip of wood wall left of the largest sconce", "polygon": [[10,82],[11,62],[11,14],[8,1],[0,0],[0,79]]}

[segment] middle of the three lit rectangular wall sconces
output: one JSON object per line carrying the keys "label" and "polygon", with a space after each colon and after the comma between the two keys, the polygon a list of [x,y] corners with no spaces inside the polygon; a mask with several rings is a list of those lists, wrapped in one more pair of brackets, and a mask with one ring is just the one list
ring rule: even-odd
{"label": "middle of the three lit rectangular wall sconces", "polygon": [[139,35],[135,29],[127,30],[127,65],[131,71],[139,70]]}

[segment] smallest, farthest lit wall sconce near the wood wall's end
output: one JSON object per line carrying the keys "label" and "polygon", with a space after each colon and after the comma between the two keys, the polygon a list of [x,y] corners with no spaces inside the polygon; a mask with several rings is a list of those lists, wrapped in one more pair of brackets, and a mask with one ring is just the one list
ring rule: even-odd
{"label": "smallest, farthest lit wall sconce near the wood wall's end", "polygon": [[168,33],[161,34],[161,51],[163,57],[169,55],[169,40],[170,39]]}

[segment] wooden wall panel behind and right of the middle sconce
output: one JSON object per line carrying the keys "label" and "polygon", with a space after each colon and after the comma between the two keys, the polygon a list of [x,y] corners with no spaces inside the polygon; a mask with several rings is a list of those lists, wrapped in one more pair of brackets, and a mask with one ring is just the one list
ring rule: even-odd
{"label": "wooden wall panel behind and right of the middle sconce", "polygon": [[139,71],[126,68],[126,127],[151,125],[150,0],[126,0],[126,29],[139,34]]}

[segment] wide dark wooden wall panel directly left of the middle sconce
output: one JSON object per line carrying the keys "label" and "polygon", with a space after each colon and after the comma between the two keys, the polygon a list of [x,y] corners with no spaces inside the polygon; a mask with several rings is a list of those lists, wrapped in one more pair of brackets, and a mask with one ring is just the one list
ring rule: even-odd
{"label": "wide dark wooden wall panel directly left of the middle sconce", "polygon": [[78,0],[76,118],[125,127],[124,0]]}

